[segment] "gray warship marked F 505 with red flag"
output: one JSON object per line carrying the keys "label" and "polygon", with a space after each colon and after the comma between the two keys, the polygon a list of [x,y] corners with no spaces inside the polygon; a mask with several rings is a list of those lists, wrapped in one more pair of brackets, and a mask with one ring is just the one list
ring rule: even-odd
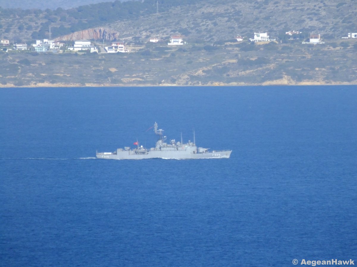
{"label": "gray warship marked F 505 with red flag", "polygon": [[[232,150],[212,150],[210,148],[197,147],[195,144],[195,135],[193,142],[176,142],[175,139],[166,142],[166,136],[163,136],[164,130],[157,129],[157,123],[154,124],[155,134],[159,136],[155,147],[149,149],[140,146],[135,142],[134,149],[130,147],[118,148],[114,152],[97,152],[97,158],[103,159],[146,159],[146,158],[164,158],[164,159],[194,159],[194,158],[229,158]],[[151,127],[152,128],[152,127]]]}

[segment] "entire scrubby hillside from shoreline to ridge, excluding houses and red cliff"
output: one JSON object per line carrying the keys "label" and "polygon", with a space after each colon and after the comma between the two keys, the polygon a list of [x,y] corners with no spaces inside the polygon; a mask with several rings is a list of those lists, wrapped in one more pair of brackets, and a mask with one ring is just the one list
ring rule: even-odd
{"label": "entire scrubby hillside from shoreline to ridge, excluding houses and red cliff", "polygon": [[[61,40],[58,29],[65,35],[104,27],[136,52],[2,52],[1,86],[357,84],[357,40],[341,39],[357,32],[354,0],[161,0],[159,14],[155,3],[116,1],[21,15],[5,10],[1,38],[46,38],[51,25],[52,37]],[[37,28],[27,30],[32,25]],[[291,30],[301,33],[290,38],[285,32]],[[254,32],[277,41],[251,43]],[[310,33],[320,33],[325,43],[303,45]],[[176,34],[188,44],[167,46]],[[237,35],[246,40],[237,42]],[[152,36],[163,41],[149,43]]]}

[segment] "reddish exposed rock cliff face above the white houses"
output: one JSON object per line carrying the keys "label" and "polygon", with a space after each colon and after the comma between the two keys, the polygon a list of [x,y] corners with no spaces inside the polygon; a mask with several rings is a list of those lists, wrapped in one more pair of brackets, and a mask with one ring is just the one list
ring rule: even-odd
{"label": "reddish exposed rock cliff face above the white houses", "polygon": [[55,38],[55,41],[75,41],[84,39],[116,40],[119,34],[109,28],[91,28]]}

